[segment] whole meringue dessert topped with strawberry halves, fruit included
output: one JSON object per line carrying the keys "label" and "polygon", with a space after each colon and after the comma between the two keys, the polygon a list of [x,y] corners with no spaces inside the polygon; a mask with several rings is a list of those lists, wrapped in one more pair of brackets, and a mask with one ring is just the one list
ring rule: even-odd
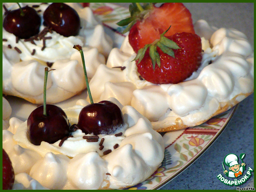
{"label": "whole meringue dessert topped with strawberry halves, fruit included", "polygon": [[129,35],[90,81],[95,101],[114,97],[165,132],[202,124],[253,92],[254,52],[243,33],[193,24],[181,3],[132,6],[131,17],[118,23],[135,19]]}

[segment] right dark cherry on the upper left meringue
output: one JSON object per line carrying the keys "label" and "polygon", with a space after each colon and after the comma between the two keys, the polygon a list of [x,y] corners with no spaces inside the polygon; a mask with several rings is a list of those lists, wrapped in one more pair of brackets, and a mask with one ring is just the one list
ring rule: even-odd
{"label": "right dark cherry on the upper left meringue", "polygon": [[44,23],[60,35],[76,36],[80,29],[77,12],[64,3],[52,3],[44,11]]}

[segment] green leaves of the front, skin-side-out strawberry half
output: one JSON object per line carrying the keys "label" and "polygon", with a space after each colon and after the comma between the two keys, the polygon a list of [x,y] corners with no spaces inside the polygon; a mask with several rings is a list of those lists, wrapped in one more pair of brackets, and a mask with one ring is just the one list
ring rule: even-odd
{"label": "green leaves of the front, skin-side-out strawberry half", "polygon": [[156,47],[159,47],[164,53],[174,58],[175,56],[174,56],[173,49],[180,49],[180,47],[174,41],[164,36],[164,34],[170,29],[170,27],[160,35],[159,40],[153,42],[153,44],[146,44],[143,48],[139,49],[134,60],[138,60],[138,63],[140,63],[147,49],[149,48],[149,56],[152,61],[153,69],[155,69],[156,64],[160,68],[161,61],[160,61],[160,56],[156,50]]}

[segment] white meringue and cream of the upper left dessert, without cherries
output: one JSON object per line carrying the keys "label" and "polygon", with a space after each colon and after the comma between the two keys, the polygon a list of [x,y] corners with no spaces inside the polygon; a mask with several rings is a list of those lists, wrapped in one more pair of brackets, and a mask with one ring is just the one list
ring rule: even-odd
{"label": "white meringue and cream of the upper left dessert, without cherries", "polygon": [[[67,3],[78,13],[81,29],[78,36],[64,37],[55,31],[47,32],[41,39],[25,41],[3,28],[3,92],[24,98],[32,103],[43,103],[44,68],[56,69],[49,73],[47,82],[47,102],[66,100],[85,89],[85,78],[80,53],[73,49],[83,47],[88,78],[92,78],[97,67],[105,64],[105,58],[113,47],[113,41],[105,34],[103,26],[93,16],[89,7],[78,3]],[[16,3],[4,3],[8,10],[18,9]],[[42,18],[49,4],[21,3],[21,6],[39,5],[35,8]],[[4,12],[3,12],[4,17]],[[40,31],[44,30],[43,24]],[[44,47],[45,43],[45,48]],[[18,48],[20,53],[15,50]]]}

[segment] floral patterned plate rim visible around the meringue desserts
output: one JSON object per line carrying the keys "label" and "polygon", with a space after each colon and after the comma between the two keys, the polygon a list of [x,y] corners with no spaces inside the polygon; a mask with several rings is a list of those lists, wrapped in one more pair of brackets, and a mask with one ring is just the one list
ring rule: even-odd
{"label": "floral patterned plate rim visible around the meringue desserts", "polygon": [[[116,22],[130,16],[128,9],[111,3],[90,3],[90,7],[103,25],[115,32],[112,38],[116,46],[120,47],[127,34],[121,34],[124,27],[117,26]],[[158,189],[177,177],[218,138],[236,108],[237,106],[211,118],[204,124],[166,132],[163,135],[165,151],[162,165],[147,180],[127,189]]]}

